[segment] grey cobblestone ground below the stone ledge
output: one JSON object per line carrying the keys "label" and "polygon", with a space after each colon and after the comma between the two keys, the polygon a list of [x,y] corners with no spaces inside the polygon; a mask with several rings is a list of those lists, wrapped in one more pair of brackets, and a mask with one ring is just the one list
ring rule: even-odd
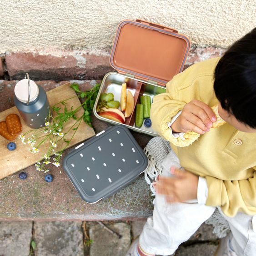
{"label": "grey cobblestone ground below the stone ledge", "polygon": [[[144,223],[2,221],[0,256],[125,256]],[[173,256],[213,256],[218,243],[212,227],[203,224]]]}

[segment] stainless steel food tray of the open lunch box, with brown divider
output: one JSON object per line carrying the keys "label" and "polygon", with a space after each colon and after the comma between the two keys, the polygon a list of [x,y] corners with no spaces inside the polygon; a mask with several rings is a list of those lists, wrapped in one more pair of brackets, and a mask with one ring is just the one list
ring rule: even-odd
{"label": "stainless steel food tray of the open lunch box, with brown divider", "polygon": [[[125,90],[123,88],[124,86],[122,86],[123,84],[126,84]],[[131,114],[128,117],[125,116],[126,111],[124,111],[124,109],[121,108],[122,102],[124,102],[124,100],[121,100],[121,98],[123,98],[122,90],[126,92],[126,99],[125,99],[126,109],[125,110],[130,110],[128,112]],[[146,127],[144,125],[145,120],[143,121],[143,125],[141,127],[135,126],[136,104],[140,102],[141,95],[150,96],[151,102],[152,102],[152,99],[156,94],[163,93],[165,91],[166,91],[166,88],[163,86],[153,85],[149,82],[131,78],[127,75],[110,72],[106,74],[102,80],[100,91],[94,105],[94,114],[100,120],[105,120],[113,124],[121,123],[122,125],[125,125],[132,130],[143,132],[151,136],[156,136],[157,133],[153,131],[151,127]],[[103,99],[102,95],[103,94],[107,95],[110,93],[113,94],[114,96],[113,100],[120,102],[120,106],[118,108],[115,108],[115,109],[108,108],[108,107],[102,108],[102,102],[104,102],[104,104],[107,103],[104,100],[102,100]],[[130,94],[130,101],[131,101],[131,95],[132,95],[132,98],[134,100],[133,104],[131,104],[131,102],[129,101],[128,94]],[[128,104],[128,101],[130,102],[129,104]]]}

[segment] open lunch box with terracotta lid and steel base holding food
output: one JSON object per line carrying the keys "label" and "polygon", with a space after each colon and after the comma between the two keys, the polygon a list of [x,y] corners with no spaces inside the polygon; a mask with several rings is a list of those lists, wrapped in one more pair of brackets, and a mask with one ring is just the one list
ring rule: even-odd
{"label": "open lunch box with terracotta lid and steel base holding food", "polygon": [[[136,126],[136,104],[142,104],[142,95],[150,97],[152,103],[155,95],[166,91],[166,83],[183,70],[189,48],[190,41],[185,35],[178,34],[177,30],[143,20],[122,21],[117,28],[110,54],[110,65],[118,73],[110,72],[104,76],[93,109],[95,116],[112,124],[122,123],[134,131],[156,136],[157,133],[145,125],[145,116],[142,125]],[[126,112],[121,109],[124,83],[127,100],[128,90],[134,99],[128,117],[123,115]],[[123,113],[111,108],[105,109],[104,113],[97,111],[102,95],[108,93],[114,95],[114,100],[121,102],[118,110]],[[109,114],[110,110],[115,113]],[[111,117],[116,114],[121,115],[123,120],[118,116],[117,119]]]}

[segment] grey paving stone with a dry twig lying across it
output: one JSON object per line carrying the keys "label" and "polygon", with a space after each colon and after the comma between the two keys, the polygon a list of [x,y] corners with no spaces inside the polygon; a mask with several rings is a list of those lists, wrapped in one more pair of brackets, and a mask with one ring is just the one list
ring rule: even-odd
{"label": "grey paving stone with a dry twig lying across it", "polygon": [[112,235],[99,224],[90,228],[90,256],[125,256],[131,244],[130,225],[119,222],[107,225],[113,231],[118,232],[122,237]]}

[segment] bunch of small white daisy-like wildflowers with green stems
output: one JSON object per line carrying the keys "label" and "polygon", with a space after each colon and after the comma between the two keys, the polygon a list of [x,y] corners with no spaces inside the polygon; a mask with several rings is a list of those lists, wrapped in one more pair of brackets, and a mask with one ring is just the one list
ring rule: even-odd
{"label": "bunch of small white daisy-like wildflowers with green stems", "polygon": [[[73,106],[69,108],[68,101],[74,97],[62,100],[50,107],[45,120],[45,127],[27,131],[19,136],[23,144],[28,144],[31,147],[31,153],[42,153],[42,160],[35,164],[37,171],[48,172],[50,164],[56,167],[60,166],[62,152],[69,146],[82,121],[92,127],[91,113],[100,84],[96,84],[91,90],[85,92],[81,92],[79,85],[76,83],[71,84],[70,87],[75,90],[79,98],[85,99],[81,105],[75,109],[73,109]],[[81,108],[84,111],[82,111],[82,115],[77,116],[78,110]],[[79,111],[79,113],[81,112]],[[69,124],[70,119],[75,120],[72,125]],[[42,151],[41,147],[43,147]]]}

